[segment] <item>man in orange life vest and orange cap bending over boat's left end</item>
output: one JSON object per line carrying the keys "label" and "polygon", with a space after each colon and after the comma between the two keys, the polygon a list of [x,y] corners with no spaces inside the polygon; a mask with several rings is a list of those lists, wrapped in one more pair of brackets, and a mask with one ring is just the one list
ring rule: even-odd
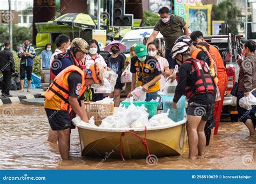
{"label": "man in orange life vest and orange cap bending over boat's left end", "polygon": [[58,147],[62,159],[69,159],[70,112],[73,110],[82,121],[88,123],[84,91],[93,83],[103,84],[104,68],[99,63],[91,64],[88,69],[71,65],[60,72],[45,92],[44,108],[51,129],[57,131]]}

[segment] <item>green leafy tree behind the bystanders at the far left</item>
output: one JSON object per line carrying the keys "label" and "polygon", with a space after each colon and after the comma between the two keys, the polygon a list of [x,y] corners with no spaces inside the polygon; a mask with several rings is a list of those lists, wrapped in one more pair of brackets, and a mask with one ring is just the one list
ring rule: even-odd
{"label": "green leafy tree behind the bystanders at the far left", "polygon": [[[17,25],[12,26],[12,48],[14,51],[18,51],[18,46],[23,43],[24,38],[29,38],[32,41],[32,29],[28,27],[21,27]],[[9,39],[8,26],[0,24],[0,48],[5,41]]]}

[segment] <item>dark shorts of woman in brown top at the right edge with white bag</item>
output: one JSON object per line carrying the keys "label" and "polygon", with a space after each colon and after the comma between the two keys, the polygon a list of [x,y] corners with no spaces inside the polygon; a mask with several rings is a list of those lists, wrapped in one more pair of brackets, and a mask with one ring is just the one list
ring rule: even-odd
{"label": "dark shorts of woman in brown top at the right edge with white bag", "polygon": [[[252,93],[252,94],[256,97],[256,93]],[[251,110],[246,110],[246,109],[240,107],[239,100],[242,97],[244,97],[244,92],[238,91],[238,95],[237,95],[237,111],[238,111],[239,120],[242,121],[243,123],[245,123],[247,121],[247,119],[251,119],[253,124],[254,124],[254,126],[256,126],[256,117],[255,117],[256,106],[254,105]]]}

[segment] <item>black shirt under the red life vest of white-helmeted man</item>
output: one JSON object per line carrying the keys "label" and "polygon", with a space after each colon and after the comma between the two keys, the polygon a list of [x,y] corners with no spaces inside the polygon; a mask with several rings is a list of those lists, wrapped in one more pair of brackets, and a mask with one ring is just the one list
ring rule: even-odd
{"label": "black shirt under the red life vest of white-helmeted man", "polygon": [[[178,73],[178,85],[175,90],[175,95],[173,98],[173,102],[178,102],[179,98],[182,95],[186,94],[186,86],[192,86],[194,82],[196,82],[197,73],[192,71],[192,63],[183,63],[179,67],[179,73]],[[213,102],[213,94],[195,94],[193,95],[190,100],[190,102],[196,102],[199,104],[211,104]]]}

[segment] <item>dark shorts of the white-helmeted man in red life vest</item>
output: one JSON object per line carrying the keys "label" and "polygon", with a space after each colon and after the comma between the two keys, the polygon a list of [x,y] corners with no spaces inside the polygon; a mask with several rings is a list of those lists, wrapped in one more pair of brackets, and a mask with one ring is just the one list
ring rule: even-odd
{"label": "dark shorts of the white-helmeted man in red life vest", "polygon": [[213,111],[212,107],[213,105],[211,103],[208,105],[203,105],[196,102],[188,102],[187,115],[201,116],[203,121],[208,121],[212,113],[211,111]]}

